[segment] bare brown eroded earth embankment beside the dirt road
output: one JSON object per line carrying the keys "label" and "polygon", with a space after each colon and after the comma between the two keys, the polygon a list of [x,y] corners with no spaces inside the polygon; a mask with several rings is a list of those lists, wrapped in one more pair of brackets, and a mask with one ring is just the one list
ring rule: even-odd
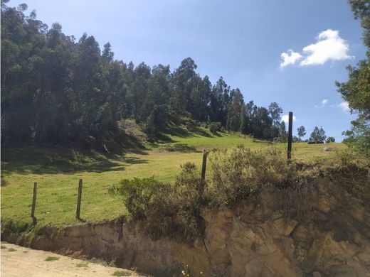
{"label": "bare brown eroded earth embankment beside the dirt road", "polygon": [[[305,190],[265,189],[234,210],[202,210],[194,244],[150,239],[125,218],[43,229],[31,247],[115,259],[154,276],[370,276],[369,206],[322,178]],[[3,239],[22,243],[9,232]]]}

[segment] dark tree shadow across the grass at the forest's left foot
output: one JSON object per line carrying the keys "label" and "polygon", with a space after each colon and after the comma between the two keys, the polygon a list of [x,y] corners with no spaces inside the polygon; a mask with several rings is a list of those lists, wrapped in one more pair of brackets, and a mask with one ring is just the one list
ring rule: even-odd
{"label": "dark tree shadow across the grass at the forest's left foot", "polygon": [[[136,153],[147,154],[144,151]],[[102,173],[125,170],[125,165],[148,163],[146,159],[126,157],[126,153],[102,154],[63,147],[3,147],[1,149],[1,173],[76,173],[88,171]],[[3,183],[4,180],[1,180]]]}

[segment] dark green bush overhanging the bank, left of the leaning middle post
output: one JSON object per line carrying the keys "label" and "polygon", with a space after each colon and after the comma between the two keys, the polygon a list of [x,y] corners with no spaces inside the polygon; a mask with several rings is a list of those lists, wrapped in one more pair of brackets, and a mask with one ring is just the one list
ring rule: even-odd
{"label": "dark green bush overhanging the bank, left of the leaning middle post", "polygon": [[199,209],[205,183],[193,163],[182,166],[174,185],[152,178],[124,179],[111,187],[123,197],[132,219],[142,220],[144,230],[153,238],[177,235],[191,241],[201,235]]}

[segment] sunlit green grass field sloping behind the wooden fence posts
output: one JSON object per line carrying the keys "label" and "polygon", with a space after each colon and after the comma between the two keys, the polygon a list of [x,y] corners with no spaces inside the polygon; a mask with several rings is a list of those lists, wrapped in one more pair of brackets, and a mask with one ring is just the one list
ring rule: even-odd
{"label": "sunlit green grass field sloping behind the wooden fence posts", "polygon": [[[253,149],[272,147],[270,143],[244,139],[239,134],[190,133],[186,129],[169,130],[163,142],[147,145],[139,151],[120,155],[76,151],[70,148],[2,148],[1,151],[1,222],[14,219],[31,223],[33,182],[38,183],[36,218],[38,226],[79,224],[75,219],[78,180],[83,179],[81,218],[88,221],[112,219],[125,214],[120,198],[108,188],[122,178],[154,175],[171,182],[186,161],[201,166],[203,149],[226,148],[243,144]],[[274,146],[285,151],[283,143]],[[337,151],[342,143],[331,143]],[[337,151],[323,152],[323,145],[293,143],[293,158],[314,163],[336,158]]]}

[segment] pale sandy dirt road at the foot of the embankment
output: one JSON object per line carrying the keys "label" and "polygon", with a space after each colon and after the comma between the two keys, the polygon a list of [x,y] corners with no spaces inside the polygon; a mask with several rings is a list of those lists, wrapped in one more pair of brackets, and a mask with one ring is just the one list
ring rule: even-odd
{"label": "pale sandy dirt road at the foot of the embankment", "polygon": [[[51,261],[46,261],[50,259]],[[146,276],[47,251],[1,242],[1,277]]]}

